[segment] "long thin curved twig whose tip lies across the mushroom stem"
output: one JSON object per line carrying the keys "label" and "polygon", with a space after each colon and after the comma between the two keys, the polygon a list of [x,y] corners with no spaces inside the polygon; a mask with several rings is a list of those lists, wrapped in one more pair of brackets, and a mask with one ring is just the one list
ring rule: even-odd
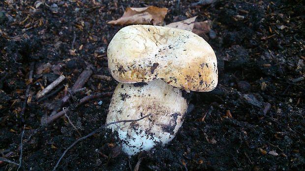
{"label": "long thin curved twig whose tip lies across the mushroom stem", "polygon": [[82,140],[85,140],[86,138],[88,138],[88,137],[94,135],[95,133],[101,131],[103,128],[108,127],[109,125],[117,124],[117,123],[120,123],[120,122],[125,122],[125,123],[126,123],[126,122],[138,122],[138,121],[143,120],[144,118],[149,117],[149,116],[151,116],[151,115],[152,115],[152,113],[151,113],[151,114],[148,114],[148,115],[146,115],[146,116],[144,116],[144,117],[141,117],[141,118],[139,118],[139,119],[136,119],[136,120],[122,120],[122,121],[117,121],[117,122],[110,122],[110,123],[107,123],[107,124],[105,124],[105,125],[100,126],[99,128],[95,129],[94,131],[92,131],[91,133],[89,133],[88,135],[86,135],[85,137],[82,137],[82,138],[80,138],[80,139],[77,139],[74,143],[72,143],[69,147],[67,147],[67,148],[63,151],[63,153],[62,153],[60,159],[58,160],[58,162],[56,163],[56,165],[55,165],[53,171],[56,171],[56,168],[57,168],[58,165],[60,164],[61,159],[63,158],[63,156],[65,155],[65,153],[67,153],[67,151],[68,151],[69,149],[71,149],[73,146],[75,146],[78,142],[80,142],[80,141],[82,141]]}

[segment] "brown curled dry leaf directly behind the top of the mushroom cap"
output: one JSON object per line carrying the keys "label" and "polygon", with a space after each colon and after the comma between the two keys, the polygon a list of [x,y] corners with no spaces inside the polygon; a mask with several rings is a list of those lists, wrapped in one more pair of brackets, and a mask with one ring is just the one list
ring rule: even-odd
{"label": "brown curled dry leaf directly behind the top of the mushroom cap", "polygon": [[123,16],[108,24],[162,24],[167,8],[148,6],[144,8],[126,8]]}

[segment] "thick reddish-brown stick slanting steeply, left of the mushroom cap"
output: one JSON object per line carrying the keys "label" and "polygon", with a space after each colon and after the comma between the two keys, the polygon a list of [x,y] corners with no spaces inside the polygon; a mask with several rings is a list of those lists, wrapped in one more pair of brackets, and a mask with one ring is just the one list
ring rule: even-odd
{"label": "thick reddish-brown stick slanting steeply, left of the mushroom cap", "polygon": [[[72,87],[72,92],[84,87],[88,79],[90,78],[92,74],[92,65],[89,65],[77,78],[75,81],[73,87]],[[71,98],[70,95],[67,95],[61,99],[61,101],[58,103],[57,107],[55,107],[51,113],[51,116],[55,115],[62,107],[63,105],[69,101]]]}

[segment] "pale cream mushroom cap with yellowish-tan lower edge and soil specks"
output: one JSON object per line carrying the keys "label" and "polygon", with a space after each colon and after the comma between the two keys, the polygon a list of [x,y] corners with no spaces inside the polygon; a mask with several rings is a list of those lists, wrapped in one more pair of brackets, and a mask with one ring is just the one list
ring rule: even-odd
{"label": "pale cream mushroom cap with yellowish-tan lower edge and soil specks", "polygon": [[218,82],[213,49],[186,30],[129,25],[113,37],[107,56],[112,76],[122,83],[158,78],[180,89],[207,92]]}

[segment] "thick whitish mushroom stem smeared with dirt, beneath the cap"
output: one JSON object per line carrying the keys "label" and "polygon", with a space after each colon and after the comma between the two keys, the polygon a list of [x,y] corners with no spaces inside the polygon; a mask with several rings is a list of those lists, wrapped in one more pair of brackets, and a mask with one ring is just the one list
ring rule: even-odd
{"label": "thick whitish mushroom stem smeared with dirt, beneath the cap", "polygon": [[180,89],[155,79],[147,85],[119,83],[109,106],[106,123],[135,120],[152,114],[138,122],[120,122],[109,125],[122,145],[122,151],[134,155],[150,150],[157,143],[171,141],[181,127],[187,110],[187,100]]}

